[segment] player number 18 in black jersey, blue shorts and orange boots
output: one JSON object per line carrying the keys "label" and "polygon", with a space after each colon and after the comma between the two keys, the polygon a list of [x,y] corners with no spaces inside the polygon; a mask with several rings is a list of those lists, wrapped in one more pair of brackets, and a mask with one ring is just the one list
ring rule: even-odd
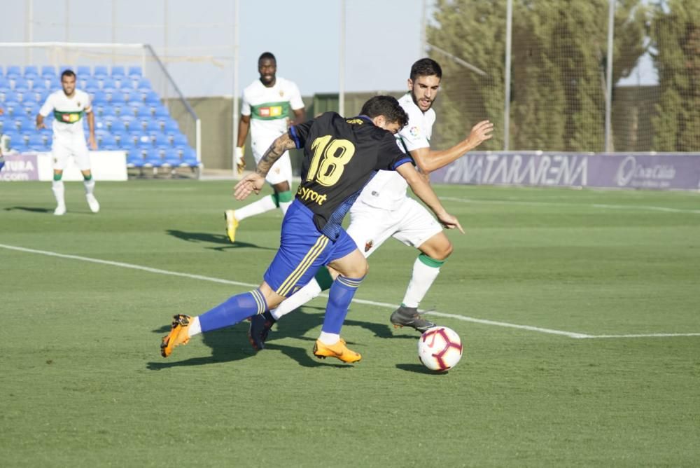
{"label": "player number 18 in black jersey, blue shorts and orange boots", "polygon": [[188,343],[191,336],[237,324],[276,307],[307,284],[318,268],[327,265],[339,275],[330,287],[314,355],[359,361],[360,354],[349,350],[340,338],[340,329],[367,273],[367,261],[341,223],[367,181],[378,170],[395,170],[444,226],[464,232],[416,172],[412,159],[398,148],[393,135],[407,120],[396,99],[375,96],[356,118],[327,112],[290,127],[275,139],[255,173],[241,179],[235,188],[238,200],[259,193],[269,168],[284,151],[304,149],[301,184],[283,219],[281,245],[264,281],[258,289],[232,296],[198,317],[175,315],[172,330],[160,345],[162,356],[168,357],[174,347]]}

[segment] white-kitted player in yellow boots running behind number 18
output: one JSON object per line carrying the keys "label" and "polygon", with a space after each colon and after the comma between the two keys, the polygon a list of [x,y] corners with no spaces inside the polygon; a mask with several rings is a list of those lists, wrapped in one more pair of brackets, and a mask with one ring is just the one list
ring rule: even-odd
{"label": "white-kitted player in yellow boots running behind number 18", "polygon": [[[294,113],[294,123],[302,123],[306,117],[304,102],[299,88],[292,81],[276,76],[277,62],[269,52],[258,58],[260,79],[253,81],[243,90],[241,121],[238,124],[238,142],[235,149],[238,173],[246,166],[243,149],[251,129],[251,149],[255,164],[274,140],[283,135],[289,126],[290,110]],[[249,216],[265,213],[279,208],[282,213],[293,200],[292,163],[286,151],[267,173],[265,180],[272,186],[274,193],[239,209],[227,209],[225,212],[226,235],[230,242],[236,242],[238,223]]]}

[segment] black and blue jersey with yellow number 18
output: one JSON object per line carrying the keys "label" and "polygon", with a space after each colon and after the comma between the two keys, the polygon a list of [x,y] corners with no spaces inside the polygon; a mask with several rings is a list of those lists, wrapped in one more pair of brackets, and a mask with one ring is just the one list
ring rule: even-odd
{"label": "black and blue jersey with yellow number 18", "polygon": [[345,214],[378,170],[395,170],[412,159],[395,137],[367,116],[323,113],[294,125],[289,135],[304,149],[302,181],[296,198],[314,213],[316,228],[337,238]]}

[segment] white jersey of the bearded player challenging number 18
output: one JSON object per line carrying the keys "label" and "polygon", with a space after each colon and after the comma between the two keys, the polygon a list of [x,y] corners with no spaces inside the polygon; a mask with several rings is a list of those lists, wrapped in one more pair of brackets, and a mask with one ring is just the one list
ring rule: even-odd
{"label": "white jersey of the bearded player challenging number 18", "polygon": [[[435,111],[430,108],[423,112],[413,102],[408,92],[398,99],[399,104],[408,114],[408,123],[396,134],[396,142],[404,152],[419,148],[430,148],[430,136],[433,135]],[[358,201],[371,207],[397,209],[407,198],[406,179],[395,171],[379,171],[363,188]]]}

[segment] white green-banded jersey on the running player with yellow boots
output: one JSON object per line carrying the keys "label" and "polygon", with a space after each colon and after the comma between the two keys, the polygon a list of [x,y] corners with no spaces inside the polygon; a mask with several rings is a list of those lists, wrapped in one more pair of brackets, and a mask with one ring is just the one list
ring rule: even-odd
{"label": "white green-banded jersey on the running player with yellow boots", "polygon": [[251,145],[263,153],[270,144],[287,131],[292,111],[303,109],[299,88],[292,81],[277,76],[274,86],[267,88],[255,80],[243,90],[241,114],[251,116]]}

